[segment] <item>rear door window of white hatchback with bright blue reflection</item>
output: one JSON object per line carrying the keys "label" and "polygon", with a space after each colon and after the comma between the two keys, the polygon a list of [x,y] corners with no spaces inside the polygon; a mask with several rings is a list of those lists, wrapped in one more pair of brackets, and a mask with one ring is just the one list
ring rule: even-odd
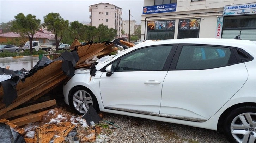
{"label": "rear door window of white hatchback with bright blue reflection", "polygon": [[184,45],[176,69],[199,70],[226,66],[230,55],[230,48]]}

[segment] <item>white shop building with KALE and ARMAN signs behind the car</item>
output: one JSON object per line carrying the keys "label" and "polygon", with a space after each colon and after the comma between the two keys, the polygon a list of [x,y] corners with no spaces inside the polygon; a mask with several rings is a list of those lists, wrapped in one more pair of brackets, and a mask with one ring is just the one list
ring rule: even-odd
{"label": "white shop building with KALE and ARMAN signs behind the car", "polygon": [[144,0],[141,40],[256,41],[256,0]]}

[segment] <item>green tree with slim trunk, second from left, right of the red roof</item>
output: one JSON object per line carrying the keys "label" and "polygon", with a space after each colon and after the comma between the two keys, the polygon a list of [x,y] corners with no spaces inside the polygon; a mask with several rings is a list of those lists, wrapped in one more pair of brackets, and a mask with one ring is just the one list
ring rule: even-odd
{"label": "green tree with slim trunk, second from left, right of the red roof", "polygon": [[58,51],[59,43],[62,40],[63,32],[65,29],[68,28],[68,20],[64,20],[59,13],[48,13],[44,16],[43,25],[47,27],[48,30],[51,30],[54,33],[56,40],[56,51]]}

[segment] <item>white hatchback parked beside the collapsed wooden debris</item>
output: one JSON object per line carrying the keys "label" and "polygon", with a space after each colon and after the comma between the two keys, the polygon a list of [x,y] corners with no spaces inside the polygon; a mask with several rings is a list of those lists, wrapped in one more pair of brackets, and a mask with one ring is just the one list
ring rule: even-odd
{"label": "white hatchback parked beside the collapsed wooden debris", "polygon": [[97,111],[222,130],[256,141],[256,44],[235,39],[147,40],[63,87],[65,102]]}

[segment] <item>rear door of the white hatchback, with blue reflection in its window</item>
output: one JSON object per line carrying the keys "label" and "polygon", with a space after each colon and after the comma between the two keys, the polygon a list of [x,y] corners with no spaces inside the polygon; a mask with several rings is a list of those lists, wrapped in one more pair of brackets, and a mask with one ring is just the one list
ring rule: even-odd
{"label": "rear door of the white hatchback, with blue reflection in its window", "polygon": [[213,116],[248,76],[234,51],[221,46],[179,45],[163,83],[160,116],[197,122]]}

